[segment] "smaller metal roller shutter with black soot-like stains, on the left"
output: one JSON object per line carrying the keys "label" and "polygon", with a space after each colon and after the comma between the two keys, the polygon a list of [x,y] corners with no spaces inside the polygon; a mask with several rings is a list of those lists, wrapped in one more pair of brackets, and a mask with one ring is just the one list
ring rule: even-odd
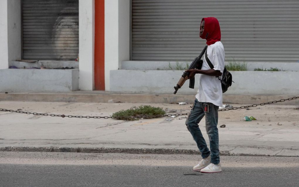
{"label": "smaller metal roller shutter with black soot-like stains, on the left", "polygon": [[23,59],[75,60],[78,46],[78,0],[22,0]]}

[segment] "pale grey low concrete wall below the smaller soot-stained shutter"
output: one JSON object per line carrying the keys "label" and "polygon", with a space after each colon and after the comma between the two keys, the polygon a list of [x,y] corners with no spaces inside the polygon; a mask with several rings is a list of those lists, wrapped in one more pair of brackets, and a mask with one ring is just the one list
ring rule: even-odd
{"label": "pale grey low concrete wall below the smaller soot-stained shutter", "polygon": [[1,69],[0,92],[69,92],[79,89],[79,69]]}

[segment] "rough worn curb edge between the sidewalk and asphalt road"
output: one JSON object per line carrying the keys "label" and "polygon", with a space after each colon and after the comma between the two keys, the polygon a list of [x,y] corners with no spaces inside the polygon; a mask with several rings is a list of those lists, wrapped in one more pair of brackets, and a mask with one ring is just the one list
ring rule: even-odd
{"label": "rough worn curb edge between the sidewalk and asphalt road", "polygon": [[[188,154],[198,155],[199,150],[163,148],[68,148],[68,147],[0,147],[0,151],[17,152],[69,152],[69,153],[127,153],[127,154]],[[220,151],[220,156],[277,156],[267,154],[246,154]],[[280,155],[278,155],[280,156]],[[299,157],[299,156],[286,156]]]}

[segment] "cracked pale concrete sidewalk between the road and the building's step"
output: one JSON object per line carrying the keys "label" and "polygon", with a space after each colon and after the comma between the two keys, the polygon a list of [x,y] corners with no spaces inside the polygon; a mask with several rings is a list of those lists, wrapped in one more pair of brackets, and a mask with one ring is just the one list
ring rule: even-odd
{"label": "cracked pale concrete sidewalk between the road and the building's step", "polygon": [[[297,99],[298,100],[298,99]],[[298,102],[298,101],[296,101]],[[247,103],[253,104],[253,103]],[[281,103],[283,104],[283,103]],[[64,115],[110,116],[146,103],[78,103],[0,101],[0,108]],[[190,106],[153,103],[154,107],[187,113]],[[246,103],[232,104],[234,107]],[[219,112],[222,155],[299,156],[298,105],[266,105]],[[254,116],[256,121],[242,121]],[[0,112],[0,151],[71,151],[117,153],[197,154],[198,148],[184,124],[186,115],[122,121],[61,118]],[[206,140],[204,118],[199,127]]]}

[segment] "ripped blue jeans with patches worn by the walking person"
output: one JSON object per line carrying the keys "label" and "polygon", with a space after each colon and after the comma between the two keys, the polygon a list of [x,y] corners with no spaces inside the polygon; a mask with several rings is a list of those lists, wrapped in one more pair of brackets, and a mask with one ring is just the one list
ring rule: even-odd
{"label": "ripped blue jeans with patches worn by the walking person", "polygon": [[[219,136],[218,136],[218,109],[219,107],[212,103],[202,103],[195,99],[190,114],[186,120],[187,129],[193,136],[202,158],[211,155],[211,162],[219,164]],[[210,150],[202,136],[198,123],[205,116],[205,127],[210,141]]]}

